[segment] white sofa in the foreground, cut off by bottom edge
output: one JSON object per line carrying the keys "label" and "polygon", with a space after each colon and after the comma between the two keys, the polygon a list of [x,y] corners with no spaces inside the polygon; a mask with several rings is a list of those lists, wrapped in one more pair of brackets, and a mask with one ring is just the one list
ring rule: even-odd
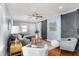
{"label": "white sofa in the foreground, cut off by bottom edge", "polygon": [[47,56],[48,48],[32,48],[24,46],[22,47],[23,56]]}

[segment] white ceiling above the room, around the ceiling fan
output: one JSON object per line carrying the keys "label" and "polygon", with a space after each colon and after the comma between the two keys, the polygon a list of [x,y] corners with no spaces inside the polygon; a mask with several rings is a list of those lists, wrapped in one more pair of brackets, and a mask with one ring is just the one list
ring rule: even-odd
{"label": "white ceiling above the room, around the ceiling fan", "polygon": [[[78,3],[9,3],[10,13],[16,20],[26,20],[34,11],[45,17],[55,16],[79,8]],[[59,7],[63,9],[59,10]]]}

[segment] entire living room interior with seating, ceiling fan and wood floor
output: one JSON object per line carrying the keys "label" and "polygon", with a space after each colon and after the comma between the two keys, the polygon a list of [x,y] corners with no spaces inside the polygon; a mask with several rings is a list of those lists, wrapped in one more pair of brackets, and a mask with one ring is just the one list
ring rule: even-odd
{"label": "entire living room interior with seating, ceiling fan and wood floor", "polygon": [[78,3],[0,4],[0,56],[79,56],[78,8]]}

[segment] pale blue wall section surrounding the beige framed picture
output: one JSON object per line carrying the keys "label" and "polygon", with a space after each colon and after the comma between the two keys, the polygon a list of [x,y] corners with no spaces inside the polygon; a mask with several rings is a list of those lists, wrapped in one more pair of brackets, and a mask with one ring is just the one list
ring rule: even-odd
{"label": "pale blue wall section surrounding the beige framed picture", "polygon": [[[56,21],[57,23],[57,31],[50,31],[49,24],[50,22]],[[55,17],[49,17],[47,20],[47,36],[48,40],[61,40],[61,17],[55,16]]]}

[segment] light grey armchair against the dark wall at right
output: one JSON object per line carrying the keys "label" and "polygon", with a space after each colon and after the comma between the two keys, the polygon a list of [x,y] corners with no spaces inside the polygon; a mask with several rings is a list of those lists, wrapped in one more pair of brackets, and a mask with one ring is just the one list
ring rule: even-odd
{"label": "light grey armchair against the dark wall at right", "polygon": [[60,41],[60,49],[67,51],[75,51],[76,44],[76,38],[62,38]]}

